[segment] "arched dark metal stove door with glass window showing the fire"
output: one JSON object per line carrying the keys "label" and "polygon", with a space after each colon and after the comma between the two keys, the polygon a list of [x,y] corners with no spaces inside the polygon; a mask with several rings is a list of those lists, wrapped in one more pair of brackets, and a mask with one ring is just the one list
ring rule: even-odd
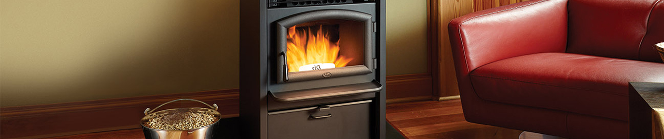
{"label": "arched dark metal stove door with glass window showing the fire", "polygon": [[277,83],[373,73],[372,16],[329,9],[276,23]]}

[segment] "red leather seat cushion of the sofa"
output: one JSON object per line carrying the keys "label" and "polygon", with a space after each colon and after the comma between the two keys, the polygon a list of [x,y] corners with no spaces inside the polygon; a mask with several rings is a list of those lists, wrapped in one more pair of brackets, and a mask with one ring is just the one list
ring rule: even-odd
{"label": "red leather seat cushion of the sofa", "polygon": [[487,101],[627,121],[629,81],[664,82],[664,64],[539,53],[492,62],[470,76]]}

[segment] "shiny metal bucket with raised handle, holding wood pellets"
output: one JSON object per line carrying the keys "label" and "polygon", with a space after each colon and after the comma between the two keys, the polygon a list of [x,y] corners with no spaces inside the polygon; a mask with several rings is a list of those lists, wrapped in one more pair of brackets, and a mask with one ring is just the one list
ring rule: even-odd
{"label": "shiny metal bucket with raised handle, holding wood pellets", "polygon": [[[162,107],[163,105],[167,105],[169,103],[173,103],[175,101],[196,101],[196,102],[203,103],[203,104],[207,105],[207,107],[210,107],[210,109],[195,107],[195,108],[167,109],[167,110],[163,110],[163,111],[153,112],[153,111],[159,109],[159,107]],[[143,126],[143,134],[145,134],[145,138],[147,138],[147,139],[150,139],[150,138],[155,138],[155,139],[165,139],[165,138],[169,138],[169,139],[214,138],[215,128],[218,128],[217,127],[218,122],[221,119],[221,114],[218,111],[216,111],[216,109],[218,109],[216,104],[208,105],[207,103],[204,103],[203,101],[199,101],[199,100],[196,100],[196,99],[176,99],[176,100],[173,100],[173,101],[169,101],[167,103],[163,103],[163,104],[155,107],[155,109],[152,109],[152,110],[150,110],[150,108],[147,108],[147,109],[145,109],[145,111],[143,111],[143,114],[145,114],[145,116],[143,116],[143,118],[141,118],[141,126]],[[157,120],[154,120],[155,118],[161,118],[161,119],[165,119],[163,117],[178,118],[178,117],[182,117],[182,116],[180,116],[180,115],[183,115],[182,113],[195,115],[196,117],[199,117],[199,115],[212,116],[212,117],[216,117],[216,118],[212,118],[212,119],[216,119],[216,120],[212,120],[212,124],[207,124],[207,125],[204,124],[204,126],[198,126],[198,127],[193,127],[193,128],[185,128],[184,126],[180,126],[180,124],[177,124],[177,127],[174,127],[174,126],[171,126],[169,124],[168,128],[181,128],[181,129],[177,129],[177,130],[173,130],[173,129],[165,130],[165,129],[163,129],[164,127],[155,128],[155,127],[150,126],[151,122],[152,122],[153,126],[155,125],[154,122],[157,121]],[[175,115],[179,115],[179,116],[176,117]],[[191,115],[189,117],[191,117]],[[153,119],[153,120],[151,120],[151,119]],[[179,119],[183,119],[183,118],[179,118]],[[193,118],[193,119],[195,119],[195,118]],[[161,121],[167,121],[167,120],[161,120]],[[180,120],[180,121],[182,121],[182,120]],[[191,120],[185,120],[185,121],[191,121]]]}

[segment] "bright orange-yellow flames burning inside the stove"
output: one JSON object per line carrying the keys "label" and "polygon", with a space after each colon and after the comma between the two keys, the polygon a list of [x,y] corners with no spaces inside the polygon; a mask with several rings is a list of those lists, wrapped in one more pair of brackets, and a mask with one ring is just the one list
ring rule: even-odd
{"label": "bright orange-yellow flames burning inside the stove", "polygon": [[[353,58],[339,56],[339,40],[331,42],[329,34],[323,34],[323,25],[317,32],[296,30],[295,26],[288,28],[286,36],[286,56],[288,56],[288,71],[299,71],[299,67],[308,64],[335,64],[335,68],[345,67]],[[315,34],[315,35],[314,35]]]}

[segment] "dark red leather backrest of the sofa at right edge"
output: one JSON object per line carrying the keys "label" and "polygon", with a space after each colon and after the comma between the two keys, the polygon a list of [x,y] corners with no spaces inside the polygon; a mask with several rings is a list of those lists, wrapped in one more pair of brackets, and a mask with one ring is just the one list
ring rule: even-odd
{"label": "dark red leather backrest of the sofa at right edge", "polygon": [[[656,60],[657,57],[654,56],[657,55],[654,54],[657,53],[652,49],[652,45],[642,42],[646,38],[646,34],[649,41],[653,43],[664,41],[661,34],[658,38],[656,33],[662,33],[661,25],[653,24],[664,19],[661,19],[661,15],[659,15],[659,19],[649,20],[651,11],[657,3],[661,3],[661,1],[568,1],[568,47],[566,51],[609,58]],[[657,60],[657,62],[661,62],[661,60]]]}

